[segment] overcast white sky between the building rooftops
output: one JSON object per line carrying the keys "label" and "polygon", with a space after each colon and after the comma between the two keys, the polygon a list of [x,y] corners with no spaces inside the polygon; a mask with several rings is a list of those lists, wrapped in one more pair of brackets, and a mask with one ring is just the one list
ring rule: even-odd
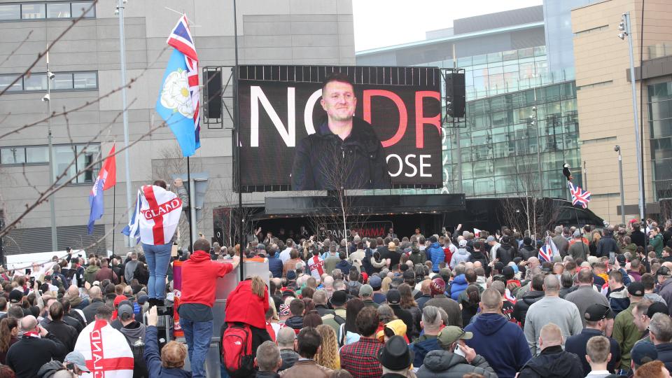
{"label": "overcast white sky between the building rooftops", "polygon": [[425,39],[456,18],[541,5],[542,0],[352,0],[355,50]]}

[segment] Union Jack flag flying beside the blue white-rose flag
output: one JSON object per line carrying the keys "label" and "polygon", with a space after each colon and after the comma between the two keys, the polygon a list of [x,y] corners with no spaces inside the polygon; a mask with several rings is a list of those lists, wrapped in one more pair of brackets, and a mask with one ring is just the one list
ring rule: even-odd
{"label": "Union Jack flag flying beside the blue white-rose flag", "polygon": [[194,132],[196,136],[196,149],[201,146],[201,113],[200,113],[200,90],[198,79],[198,55],[196,55],[196,46],[194,45],[194,38],[189,31],[189,24],[187,16],[183,15],[177,22],[177,25],[170,32],[168,36],[168,45],[174,47],[179,52],[184,54],[184,60],[187,64],[187,78],[189,82],[189,92],[191,95],[191,102],[194,108]]}

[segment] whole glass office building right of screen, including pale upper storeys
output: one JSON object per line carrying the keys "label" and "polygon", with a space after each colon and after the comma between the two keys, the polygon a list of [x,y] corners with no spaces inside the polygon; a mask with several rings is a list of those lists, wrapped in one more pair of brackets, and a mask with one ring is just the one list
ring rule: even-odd
{"label": "whole glass office building right of screen, including pale upper storeys", "polygon": [[581,185],[573,69],[550,72],[545,46],[460,57],[457,66],[466,122],[444,129],[444,192],[565,198],[564,162]]}

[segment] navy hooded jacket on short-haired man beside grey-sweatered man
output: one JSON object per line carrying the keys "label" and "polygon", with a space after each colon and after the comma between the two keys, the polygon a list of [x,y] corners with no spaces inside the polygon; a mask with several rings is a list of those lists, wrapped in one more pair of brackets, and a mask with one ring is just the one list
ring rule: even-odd
{"label": "navy hooded jacket on short-haired man beside grey-sweatered man", "polygon": [[500,314],[480,314],[464,330],[474,334],[466,344],[483,356],[500,378],[514,378],[532,358],[523,330]]}

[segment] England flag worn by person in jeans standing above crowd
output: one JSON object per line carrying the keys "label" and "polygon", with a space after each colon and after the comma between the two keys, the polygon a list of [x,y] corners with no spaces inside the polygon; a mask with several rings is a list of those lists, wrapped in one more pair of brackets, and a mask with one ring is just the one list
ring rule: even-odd
{"label": "England flag worn by person in jeans standing above crowd", "polygon": [[144,244],[167,244],[175,234],[181,214],[180,197],[160,186],[146,185],[138,190],[135,211],[122,233],[140,237]]}

